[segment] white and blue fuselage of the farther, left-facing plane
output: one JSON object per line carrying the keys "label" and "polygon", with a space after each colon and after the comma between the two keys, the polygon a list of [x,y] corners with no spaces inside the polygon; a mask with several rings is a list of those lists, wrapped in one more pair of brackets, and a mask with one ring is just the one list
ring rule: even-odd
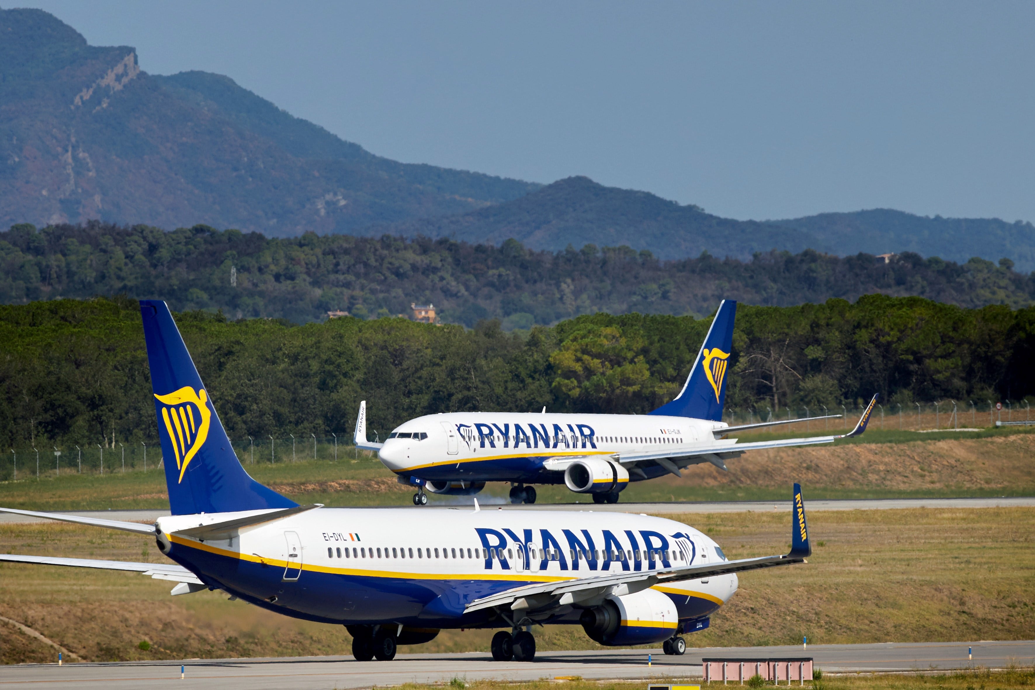
{"label": "white and blue fuselage of the farther, left-facing plane", "polygon": [[[428,481],[559,484],[563,475],[543,466],[552,458],[661,451],[675,444],[714,446],[722,443],[714,430],[726,426],[660,415],[449,413],[402,424],[379,457],[398,475]],[[652,466],[629,480],[662,474],[666,470]]]}

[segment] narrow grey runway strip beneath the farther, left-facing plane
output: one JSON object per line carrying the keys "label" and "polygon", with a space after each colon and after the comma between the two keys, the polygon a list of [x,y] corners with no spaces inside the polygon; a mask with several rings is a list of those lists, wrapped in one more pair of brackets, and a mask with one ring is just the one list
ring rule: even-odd
{"label": "narrow grey runway strip beneath the farther, left-facing plane", "polygon": [[[509,504],[481,503],[482,510],[593,510],[619,513],[741,513],[746,511],[782,510],[790,512],[790,501],[741,501],[729,503],[616,503],[613,505],[597,505],[593,503],[553,503],[533,506],[511,506]],[[1012,506],[1035,507],[1035,497],[1010,497],[990,499],[860,499],[845,501],[805,500],[805,506],[810,511],[817,510],[894,510],[904,508],[999,508]],[[380,506],[382,508],[388,506]],[[430,510],[453,508],[464,510],[474,507],[474,501],[454,503],[452,505],[436,505],[424,508],[398,506],[410,510]],[[111,520],[128,520],[151,522],[168,515],[168,510],[84,510],[56,511],[67,515],[87,515],[105,517]],[[0,513],[0,522],[40,522],[43,518],[27,515]]]}

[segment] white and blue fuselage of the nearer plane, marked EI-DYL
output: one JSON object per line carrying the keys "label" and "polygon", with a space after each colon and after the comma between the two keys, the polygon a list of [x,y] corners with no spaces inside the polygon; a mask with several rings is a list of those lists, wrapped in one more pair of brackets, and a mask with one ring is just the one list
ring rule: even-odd
{"label": "white and blue fuselage of the nearer plane, marked EI-DYL", "polygon": [[[509,627],[493,610],[464,607],[522,584],[724,560],[680,522],[592,511],[318,508],[224,539],[170,535],[256,512],[159,518],[159,546],[209,587],[324,623]],[[733,596],[737,576],[654,589],[680,622],[702,621]],[[548,620],[576,623],[579,611],[561,607]]]}

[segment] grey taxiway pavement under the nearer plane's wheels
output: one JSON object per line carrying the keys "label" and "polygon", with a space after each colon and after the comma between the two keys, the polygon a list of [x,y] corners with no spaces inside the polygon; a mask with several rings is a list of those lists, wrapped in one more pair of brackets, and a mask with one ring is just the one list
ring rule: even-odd
{"label": "grey taxiway pavement under the nearer plane's wheels", "polygon": [[[967,658],[968,647],[974,651]],[[647,655],[653,659],[647,665]],[[0,687],[211,688],[219,690],[323,690],[368,688],[403,683],[443,683],[453,678],[533,681],[559,676],[585,679],[692,679],[701,677],[702,657],[767,659],[810,656],[826,672],[908,671],[1005,667],[1035,663],[1035,641],[940,642],[918,644],[817,644],[795,647],[688,649],[682,657],[660,650],[546,652],[533,663],[493,661],[489,654],[402,654],[394,661],[354,661],[352,657],[213,659],[102,664],[24,664],[0,667]],[[184,680],[180,680],[180,664]]]}

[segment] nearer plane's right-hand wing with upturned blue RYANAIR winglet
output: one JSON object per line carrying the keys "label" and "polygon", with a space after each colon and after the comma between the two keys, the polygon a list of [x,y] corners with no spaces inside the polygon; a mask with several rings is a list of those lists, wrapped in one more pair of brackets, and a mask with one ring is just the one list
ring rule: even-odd
{"label": "nearer plane's right-hand wing with upturned blue RYANAIR winglet", "polygon": [[801,498],[801,486],[794,485],[793,516],[791,526],[791,550],[783,556],[767,556],[758,559],[741,559],[738,561],[721,561],[707,565],[688,565],[676,568],[664,568],[653,572],[620,572],[614,575],[587,577],[583,579],[562,580],[559,582],[536,582],[518,587],[505,592],[475,599],[464,611],[476,611],[482,608],[505,607],[510,610],[541,610],[564,606],[593,598],[602,598],[622,594],[633,594],[642,590],[687,579],[700,579],[713,575],[789,566],[805,563],[811,552],[808,541],[808,529],[805,523],[805,505]]}

